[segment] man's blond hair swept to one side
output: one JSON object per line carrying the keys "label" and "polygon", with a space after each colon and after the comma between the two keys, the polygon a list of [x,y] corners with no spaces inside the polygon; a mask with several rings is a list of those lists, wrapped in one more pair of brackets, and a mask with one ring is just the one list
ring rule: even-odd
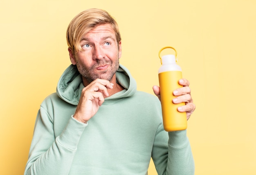
{"label": "man's blond hair swept to one side", "polygon": [[67,45],[73,53],[81,50],[82,37],[99,24],[109,23],[116,33],[117,44],[121,41],[121,35],[115,19],[105,10],[88,9],[76,15],[67,27]]}

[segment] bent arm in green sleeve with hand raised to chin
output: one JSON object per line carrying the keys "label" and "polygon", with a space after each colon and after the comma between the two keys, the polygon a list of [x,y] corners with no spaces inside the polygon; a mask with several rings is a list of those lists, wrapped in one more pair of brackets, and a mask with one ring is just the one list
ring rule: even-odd
{"label": "bent arm in green sleeve with hand raised to chin", "polygon": [[[54,108],[51,104],[52,100],[45,102],[46,105],[43,105],[45,108],[40,107],[25,175],[67,175],[69,173],[81,134],[88,120],[97,113],[99,106],[103,103],[103,95],[108,96],[107,89],[112,89],[112,84],[101,79],[83,88],[74,116],[70,116],[68,121],[64,121],[65,117],[63,117],[61,124],[57,123],[57,125],[64,124],[65,128],[56,138],[54,111],[63,109]],[[63,102],[54,101],[54,103]]]}

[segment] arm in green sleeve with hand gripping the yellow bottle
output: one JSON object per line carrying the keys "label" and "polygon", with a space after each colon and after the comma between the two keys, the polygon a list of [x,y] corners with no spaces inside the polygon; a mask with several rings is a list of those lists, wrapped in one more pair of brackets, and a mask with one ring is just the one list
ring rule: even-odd
{"label": "arm in green sleeve with hand gripping the yellow bottle", "polygon": [[[195,110],[189,88],[190,83],[186,79],[180,79],[179,84],[183,85],[183,87],[173,91],[173,95],[177,96],[173,99],[173,103],[185,102],[186,105],[179,107],[177,110],[179,112],[186,112],[188,120]],[[153,91],[160,100],[159,87],[153,86]],[[163,126],[157,130],[152,151],[152,158],[157,172],[159,175],[193,175],[195,165],[186,130],[168,132],[168,136],[165,133]],[[168,145],[164,146],[167,140]]]}

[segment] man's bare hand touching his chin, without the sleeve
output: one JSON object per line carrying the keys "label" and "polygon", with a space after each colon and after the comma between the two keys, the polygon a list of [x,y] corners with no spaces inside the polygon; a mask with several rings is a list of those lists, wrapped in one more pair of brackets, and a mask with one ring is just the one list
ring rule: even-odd
{"label": "man's bare hand touching his chin, without the sleeve", "polygon": [[104,102],[104,96],[109,96],[108,89],[112,88],[113,84],[108,80],[96,79],[92,81],[83,88],[73,117],[82,123],[87,123],[99,110]]}

